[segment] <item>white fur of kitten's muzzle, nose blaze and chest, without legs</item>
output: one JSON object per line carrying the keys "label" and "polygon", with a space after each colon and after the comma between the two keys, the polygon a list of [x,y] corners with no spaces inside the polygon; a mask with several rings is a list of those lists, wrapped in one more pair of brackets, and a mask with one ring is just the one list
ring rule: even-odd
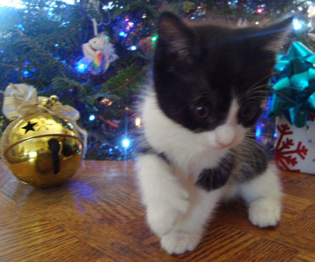
{"label": "white fur of kitten's muzzle, nose blaze and chest, without legs", "polygon": [[155,150],[167,153],[181,172],[198,176],[201,170],[216,166],[218,160],[227,154],[228,147],[222,148],[220,142],[229,140],[233,142],[231,146],[236,145],[246,133],[233,120],[238,109],[236,101],[231,108],[232,113],[224,125],[197,134],[168,118],[157,106],[155,94],[151,92],[145,97],[142,110],[144,136]]}

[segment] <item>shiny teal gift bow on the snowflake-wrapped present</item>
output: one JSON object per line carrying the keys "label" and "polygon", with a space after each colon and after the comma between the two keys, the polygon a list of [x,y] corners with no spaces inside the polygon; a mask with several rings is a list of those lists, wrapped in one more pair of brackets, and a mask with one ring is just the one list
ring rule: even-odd
{"label": "shiny teal gift bow on the snowflake-wrapped present", "polygon": [[303,127],[315,114],[315,53],[293,42],[286,55],[277,55],[275,70],[281,77],[273,85],[269,116],[284,115],[291,124]]}

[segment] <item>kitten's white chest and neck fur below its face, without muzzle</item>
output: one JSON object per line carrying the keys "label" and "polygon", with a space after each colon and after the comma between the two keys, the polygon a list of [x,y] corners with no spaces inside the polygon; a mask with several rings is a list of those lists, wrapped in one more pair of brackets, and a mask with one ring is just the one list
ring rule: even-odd
{"label": "kitten's white chest and neck fur below its face, without muzzle", "polygon": [[154,93],[149,93],[142,111],[144,135],[148,143],[167,158],[184,176],[198,177],[206,168],[215,167],[228,149],[209,146],[211,135],[194,133],[168,118],[157,106]]}

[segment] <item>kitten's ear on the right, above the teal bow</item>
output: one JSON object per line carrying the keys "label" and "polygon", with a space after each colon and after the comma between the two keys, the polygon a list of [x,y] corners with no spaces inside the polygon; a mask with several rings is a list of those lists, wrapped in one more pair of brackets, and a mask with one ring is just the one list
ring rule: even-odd
{"label": "kitten's ear on the right, above the teal bow", "polygon": [[288,39],[287,36],[292,30],[293,17],[287,17],[270,25],[263,27],[260,31],[263,49],[276,53],[279,47],[285,44]]}

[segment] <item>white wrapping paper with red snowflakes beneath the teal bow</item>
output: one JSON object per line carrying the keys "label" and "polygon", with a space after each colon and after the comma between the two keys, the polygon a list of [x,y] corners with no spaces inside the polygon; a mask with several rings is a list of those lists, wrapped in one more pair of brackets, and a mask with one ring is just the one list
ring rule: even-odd
{"label": "white wrapping paper with red snowflakes beneath the teal bow", "polygon": [[283,117],[276,117],[274,158],[282,170],[315,175],[315,115],[298,128]]}

